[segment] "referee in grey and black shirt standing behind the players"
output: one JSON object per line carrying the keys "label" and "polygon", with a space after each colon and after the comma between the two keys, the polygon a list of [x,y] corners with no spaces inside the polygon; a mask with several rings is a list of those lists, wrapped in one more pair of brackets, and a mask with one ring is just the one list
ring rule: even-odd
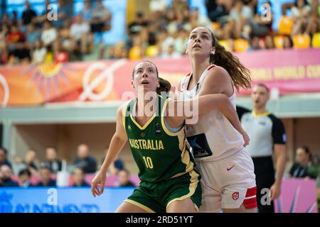
{"label": "referee in grey and black shirt standing behind the players", "polygon": [[[280,195],[282,176],[286,165],[284,126],[279,118],[267,111],[266,105],[269,96],[267,86],[257,84],[251,94],[253,110],[249,111],[237,106],[242,127],[250,136],[250,144],[246,149],[255,164],[257,204],[260,213],[274,213],[273,200]],[[277,157],[277,175],[274,172],[273,153]],[[267,196],[267,192],[270,192],[270,197]]]}

